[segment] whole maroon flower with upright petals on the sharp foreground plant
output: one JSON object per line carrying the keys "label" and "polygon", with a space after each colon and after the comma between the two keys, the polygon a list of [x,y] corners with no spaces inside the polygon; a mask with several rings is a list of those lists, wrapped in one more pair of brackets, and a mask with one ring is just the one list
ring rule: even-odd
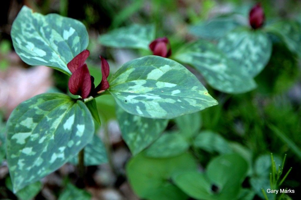
{"label": "whole maroon flower with upright petals on the sharp foreground plant", "polygon": [[72,72],[68,82],[69,90],[72,94],[80,95],[82,98],[96,95],[109,88],[109,82],[107,81],[110,73],[109,64],[100,56],[101,73],[103,75],[101,83],[94,89],[94,77],[90,76],[88,66],[85,64],[89,54],[88,50],[83,50],[67,64],[68,69]]}

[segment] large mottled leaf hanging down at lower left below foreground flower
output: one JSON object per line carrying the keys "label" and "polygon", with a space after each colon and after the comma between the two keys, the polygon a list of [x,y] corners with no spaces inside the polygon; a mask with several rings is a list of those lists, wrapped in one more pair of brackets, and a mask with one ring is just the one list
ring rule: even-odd
{"label": "large mottled leaf hanging down at lower left below foreground flower", "polygon": [[6,140],[14,191],[61,167],[93,134],[93,118],[80,100],[45,93],[18,105],[8,119]]}

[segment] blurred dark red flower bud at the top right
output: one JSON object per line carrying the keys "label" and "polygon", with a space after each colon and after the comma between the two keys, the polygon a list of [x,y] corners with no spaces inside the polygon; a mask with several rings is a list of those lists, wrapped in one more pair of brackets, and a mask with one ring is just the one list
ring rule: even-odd
{"label": "blurred dark red flower bud at the top right", "polygon": [[260,3],[256,4],[250,11],[249,22],[253,29],[262,27],[265,20],[265,15]]}

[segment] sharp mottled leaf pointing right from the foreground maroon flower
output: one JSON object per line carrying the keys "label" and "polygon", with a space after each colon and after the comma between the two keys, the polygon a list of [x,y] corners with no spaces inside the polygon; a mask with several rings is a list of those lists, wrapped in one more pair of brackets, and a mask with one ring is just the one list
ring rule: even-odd
{"label": "sharp mottled leaf pointing right from the foreground maroon flower", "polygon": [[194,74],[160,56],[125,63],[109,82],[117,104],[141,117],[170,119],[217,104]]}

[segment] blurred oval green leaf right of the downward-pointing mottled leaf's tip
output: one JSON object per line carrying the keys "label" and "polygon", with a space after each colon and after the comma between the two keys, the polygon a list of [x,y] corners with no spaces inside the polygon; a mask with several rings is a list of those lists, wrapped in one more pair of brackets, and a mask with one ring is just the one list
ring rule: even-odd
{"label": "blurred oval green leaf right of the downward-pointing mottled leaf's tip", "polygon": [[181,134],[166,132],[145,150],[145,155],[152,158],[167,158],[180,155],[188,148],[189,143]]}

